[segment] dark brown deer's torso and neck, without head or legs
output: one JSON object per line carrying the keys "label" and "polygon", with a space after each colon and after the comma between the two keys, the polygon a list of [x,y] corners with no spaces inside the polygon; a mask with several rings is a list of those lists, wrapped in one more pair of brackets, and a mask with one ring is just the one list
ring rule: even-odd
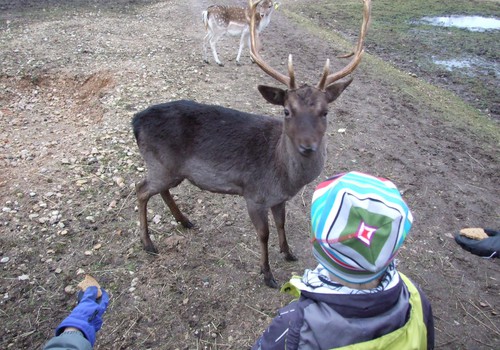
{"label": "dark brown deer's torso and neck, without head or legs", "polygon": [[188,179],[205,190],[269,205],[291,198],[323,167],[323,140],[320,152],[301,154],[293,140],[300,127],[290,124],[193,101],[152,106],[132,121],[155,181]]}

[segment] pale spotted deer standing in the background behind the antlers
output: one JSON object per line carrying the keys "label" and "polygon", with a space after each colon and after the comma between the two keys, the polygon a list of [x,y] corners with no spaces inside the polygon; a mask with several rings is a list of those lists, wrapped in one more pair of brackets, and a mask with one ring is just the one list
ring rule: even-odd
{"label": "pale spotted deer standing in the background behind the antlers", "polygon": [[[264,0],[259,5],[257,13],[257,31],[261,32],[271,21],[271,15],[279,6],[278,2]],[[203,60],[208,63],[207,43],[210,44],[214,60],[219,66],[224,66],[219,60],[215,44],[224,35],[239,36],[240,47],[236,56],[236,63],[240,63],[241,52],[245,44],[250,43],[250,27],[248,24],[249,8],[211,5],[202,12],[203,24],[207,34],[203,39]],[[248,45],[250,46],[250,45]]]}

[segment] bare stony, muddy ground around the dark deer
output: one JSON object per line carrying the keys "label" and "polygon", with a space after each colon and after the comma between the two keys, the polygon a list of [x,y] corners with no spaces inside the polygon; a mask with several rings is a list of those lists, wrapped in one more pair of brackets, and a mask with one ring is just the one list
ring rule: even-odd
{"label": "bare stony, muddy ground around the dark deer", "polygon": [[[75,305],[83,272],[112,296],[97,349],[249,348],[290,298],[263,283],[242,198],[180,185],[190,230],[153,198],[160,254],[146,254],[134,190],[146,169],[130,120],[181,98],[280,118],[256,89],[278,84],[247,52],[236,65],[236,39],[220,45],[225,67],[202,62],[208,1],[59,3],[1,2],[0,348],[40,348]],[[293,5],[300,14],[307,1]],[[325,59],[346,48],[286,14],[275,13],[262,54],[284,72],[294,53],[299,81],[315,84]],[[388,177],[414,213],[399,268],[433,304],[437,348],[498,349],[499,262],[453,240],[463,227],[500,228],[498,124],[485,119],[482,133],[455,123],[445,114],[458,99],[380,61],[368,52],[331,106],[325,170],[287,205],[299,260],[284,261],[273,230],[271,268],[283,283],[315,265],[308,212],[320,180],[349,170]]]}

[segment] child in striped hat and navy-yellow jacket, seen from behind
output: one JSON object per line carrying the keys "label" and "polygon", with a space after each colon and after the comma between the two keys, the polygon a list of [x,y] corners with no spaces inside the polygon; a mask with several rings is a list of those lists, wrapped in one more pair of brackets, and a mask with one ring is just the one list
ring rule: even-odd
{"label": "child in striped hat and navy-yellow jacket, seen from behind", "polygon": [[282,308],[253,349],[433,349],[432,309],[394,258],[413,217],[389,180],[359,172],[318,185],[311,242],[319,265],[282,291]]}

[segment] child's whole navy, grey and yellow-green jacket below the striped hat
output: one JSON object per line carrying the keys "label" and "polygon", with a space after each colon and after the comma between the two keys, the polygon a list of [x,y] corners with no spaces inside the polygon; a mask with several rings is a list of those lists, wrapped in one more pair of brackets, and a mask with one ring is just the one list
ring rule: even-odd
{"label": "child's whole navy, grey and yellow-green jacket below the striped hat", "polygon": [[433,349],[429,301],[394,266],[371,290],[329,280],[318,266],[285,286],[298,300],[280,309],[253,349]]}

